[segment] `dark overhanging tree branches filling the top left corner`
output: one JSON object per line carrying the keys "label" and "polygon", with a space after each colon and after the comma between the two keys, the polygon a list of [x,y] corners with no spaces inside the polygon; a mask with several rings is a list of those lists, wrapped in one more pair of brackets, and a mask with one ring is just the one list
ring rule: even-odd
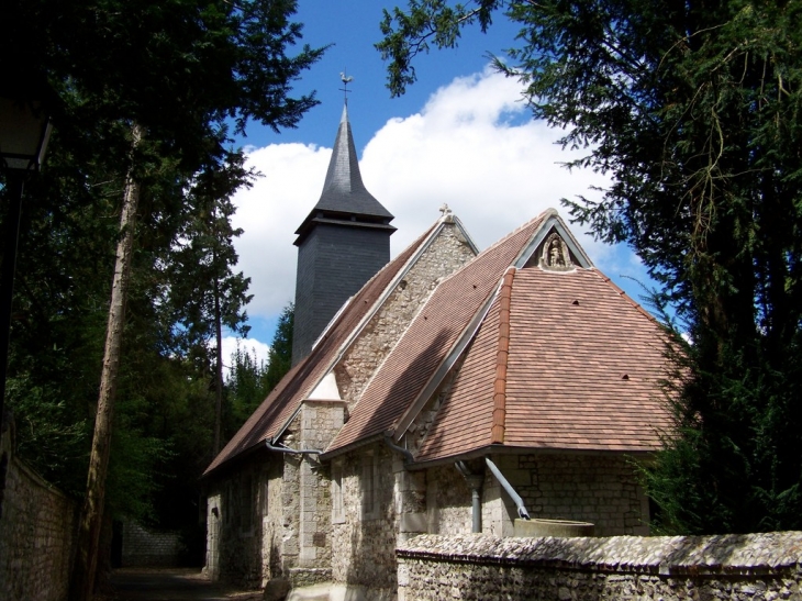
{"label": "dark overhanging tree branches filling the top left corner", "polygon": [[[147,138],[161,142],[161,155],[180,156],[194,171],[227,120],[237,132],[249,119],[278,131],[294,126],[316,104],[313,93],[290,96],[291,82],[324,51],[304,45],[287,55],[301,37],[302,26],[289,20],[296,5],[13,0],[3,5],[0,56],[10,69],[45,70],[62,98],[80,98],[77,105],[56,107],[59,126],[137,122]],[[113,140],[104,137],[107,144]]]}

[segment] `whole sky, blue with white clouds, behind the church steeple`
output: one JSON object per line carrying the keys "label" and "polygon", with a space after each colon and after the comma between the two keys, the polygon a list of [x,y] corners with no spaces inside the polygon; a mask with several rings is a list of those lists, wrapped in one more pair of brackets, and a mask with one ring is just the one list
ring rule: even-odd
{"label": "whole sky, blue with white clouds, behind the church steeple", "polygon": [[[571,156],[559,137],[530,119],[520,85],[488,68],[488,53],[503,55],[516,27],[500,18],[488,34],[464,34],[456,49],[432,51],[415,63],[419,80],[402,98],[386,88],[385,63],[374,44],[381,38],[381,9],[393,2],[301,0],[297,21],[304,43],[332,44],[323,59],[296,82],[299,93],[316,90],[321,104],[299,127],[275,134],[249,124],[238,141],[260,177],[235,197],[234,224],[240,266],[252,278],[247,348],[264,356],[281,309],[294,296],[297,248],[293,232],[320,198],[331,146],[343,111],[341,71],[354,77],[348,113],[363,179],[396,215],[394,256],[438,216],[448,203],[479,248],[535,218],[560,208],[560,198],[593,197],[591,186],[606,180],[592,172],[559,167]],[[598,196],[598,194],[597,194]],[[644,280],[643,267],[625,248],[610,248],[573,233],[602,271],[633,298],[642,294],[631,278]],[[229,338],[224,352],[236,341]]]}

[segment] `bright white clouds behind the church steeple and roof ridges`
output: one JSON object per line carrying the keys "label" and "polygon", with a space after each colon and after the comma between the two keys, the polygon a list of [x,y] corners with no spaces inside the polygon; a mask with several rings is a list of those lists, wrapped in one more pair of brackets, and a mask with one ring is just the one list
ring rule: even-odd
{"label": "bright white clouds behind the church steeple and roof ridges", "polygon": [[[528,119],[520,97],[515,80],[489,70],[458,78],[420,113],[388,121],[368,142],[361,175],[396,215],[393,256],[439,218],[444,202],[486,248],[545,209],[559,209],[560,198],[592,198],[591,185],[605,185],[591,171],[560,167],[577,155],[554,144],[559,132]],[[358,119],[350,114],[353,122]],[[336,126],[332,123],[332,135]],[[265,177],[236,196],[234,221],[245,230],[236,248],[240,268],[252,278],[253,316],[275,315],[294,298],[293,232],[320,198],[330,156],[330,148],[302,144],[249,154],[249,164]],[[606,254],[575,234],[597,261]]]}

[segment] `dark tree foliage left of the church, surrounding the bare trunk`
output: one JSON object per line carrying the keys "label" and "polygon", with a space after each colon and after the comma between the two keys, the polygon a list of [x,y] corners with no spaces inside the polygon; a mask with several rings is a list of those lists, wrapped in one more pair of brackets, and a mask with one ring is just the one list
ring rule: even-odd
{"label": "dark tree foliage left of the church, surrounding the bare trunk", "polygon": [[[316,104],[314,93],[292,96],[323,52],[296,47],[294,10],[292,0],[3,4],[5,79],[35,66],[56,96],[47,160],[26,186],[9,404],[22,454],[74,493],[86,483],[132,164],[142,183],[107,493],[113,513],[197,523],[187,508],[211,460],[214,416],[210,282],[221,286],[223,321],[246,330],[230,198],[250,174],[226,148],[226,125],[294,126]],[[145,135],[132,155],[134,123]]]}

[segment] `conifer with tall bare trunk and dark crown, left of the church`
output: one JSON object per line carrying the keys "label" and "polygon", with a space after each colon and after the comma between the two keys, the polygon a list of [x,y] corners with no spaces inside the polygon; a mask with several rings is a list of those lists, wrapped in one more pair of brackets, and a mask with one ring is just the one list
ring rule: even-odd
{"label": "conifer with tall bare trunk and dark crown, left of the church", "polygon": [[189,175],[220,156],[227,120],[241,133],[249,119],[278,131],[315,104],[312,94],[290,96],[291,81],[322,53],[304,46],[288,55],[301,31],[289,21],[294,10],[293,0],[11,0],[3,7],[2,60],[45,69],[64,101],[56,121],[86,125],[99,134],[92,142],[101,152],[121,158],[120,237],[73,599],[92,597],[143,188],[159,158]]}

